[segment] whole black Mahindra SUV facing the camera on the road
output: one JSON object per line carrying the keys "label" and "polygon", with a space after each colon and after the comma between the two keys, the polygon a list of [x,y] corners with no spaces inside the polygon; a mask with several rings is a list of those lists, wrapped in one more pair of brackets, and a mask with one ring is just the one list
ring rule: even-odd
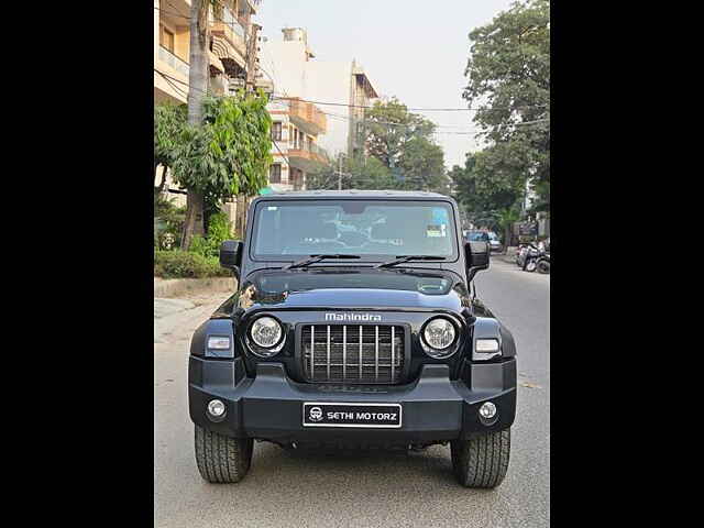
{"label": "whole black Mahindra SUV facing the camera on the road", "polygon": [[238,292],[195,332],[196,461],[239,482],[253,440],[285,448],[421,449],[450,442],[468,487],[508,468],[510,332],[470,283],[486,242],[463,242],[433,193],[301,191],[253,200],[220,263]]}

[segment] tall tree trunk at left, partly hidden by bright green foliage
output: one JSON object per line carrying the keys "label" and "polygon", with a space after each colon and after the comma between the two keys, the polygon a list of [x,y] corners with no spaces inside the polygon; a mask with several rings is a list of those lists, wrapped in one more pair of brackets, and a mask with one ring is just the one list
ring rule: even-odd
{"label": "tall tree trunk at left, partly hidden by bright green foliage", "polygon": [[[202,123],[202,99],[208,91],[208,44],[210,24],[208,8],[210,0],[190,2],[190,68],[188,70],[188,124]],[[202,195],[188,189],[186,221],[182,234],[180,248],[187,251],[195,234],[204,234]]]}

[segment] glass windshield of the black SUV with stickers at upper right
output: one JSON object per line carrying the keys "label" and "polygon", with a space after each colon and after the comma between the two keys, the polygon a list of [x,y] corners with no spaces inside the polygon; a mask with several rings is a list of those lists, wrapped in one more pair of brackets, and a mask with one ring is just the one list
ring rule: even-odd
{"label": "glass windshield of the black SUV with stickers at upper right", "polygon": [[251,254],[262,260],[457,256],[452,208],[441,201],[266,200],[257,204],[252,234]]}

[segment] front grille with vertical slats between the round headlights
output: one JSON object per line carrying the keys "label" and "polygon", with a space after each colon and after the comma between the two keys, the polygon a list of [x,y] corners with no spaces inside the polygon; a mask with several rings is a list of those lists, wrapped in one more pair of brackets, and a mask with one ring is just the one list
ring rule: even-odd
{"label": "front grille with vertical slats between the round headlights", "polygon": [[404,367],[404,327],[306,324],[301,349],[309,382],[393,384]]}

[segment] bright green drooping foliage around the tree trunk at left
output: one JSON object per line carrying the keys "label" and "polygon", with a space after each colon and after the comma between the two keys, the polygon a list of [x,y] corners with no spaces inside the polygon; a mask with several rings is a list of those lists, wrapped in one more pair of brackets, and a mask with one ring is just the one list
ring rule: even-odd
{"label": "bright green drooping foliage around the tree trunk at left", "polygon": [[176,182],[210,204],[255,195],[266,185],[272,162],[265,107],[262,94],[204,98],[204,124],[185,124],[175,148]]}

